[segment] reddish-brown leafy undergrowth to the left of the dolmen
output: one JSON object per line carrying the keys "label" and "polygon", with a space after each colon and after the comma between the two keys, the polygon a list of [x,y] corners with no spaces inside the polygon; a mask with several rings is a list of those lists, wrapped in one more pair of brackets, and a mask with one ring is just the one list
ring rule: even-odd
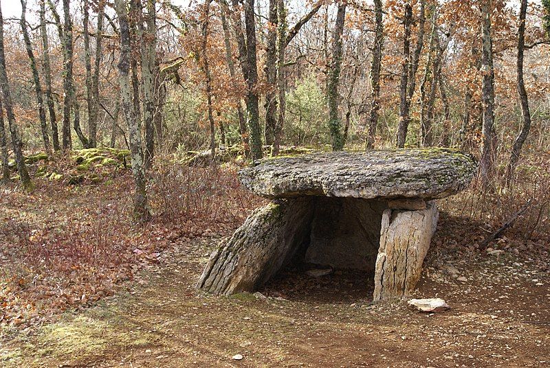
{"label": "reddish-brown leafy undergrowth to the left of the dolmen", "polygon": [[225,233],[261,199],[236,168],[155,165],[153,221],[133,221],[129,172],[111,183],[67,187],[35,179],[32,193],[0,194],[0,321],[24,327],[111,295],[172,240]]}

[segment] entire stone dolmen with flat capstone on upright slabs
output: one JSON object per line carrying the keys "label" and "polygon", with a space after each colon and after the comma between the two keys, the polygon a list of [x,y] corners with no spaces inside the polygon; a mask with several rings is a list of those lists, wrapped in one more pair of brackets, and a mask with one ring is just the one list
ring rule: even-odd
{"label": "entire stone dolmen with flat capstone on upright slabs", "polygon": [[435,200],[474,177],[448,148],[325,152],[256,161],[244,187],[270,199],[210,256],[197,286],[253,292],[293,262],[373,273],[373,301],[409,295],[437,226]]}

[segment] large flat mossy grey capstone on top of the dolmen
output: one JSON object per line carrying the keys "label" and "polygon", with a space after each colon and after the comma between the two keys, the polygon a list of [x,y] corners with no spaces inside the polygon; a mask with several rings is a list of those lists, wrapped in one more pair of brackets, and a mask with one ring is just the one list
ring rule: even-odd
{"label": "large flat mossy grey capstone on top of the dolmen", "polygon": [[325,152],[256,161],[241,183],[266,198],[444,198],[474,177],[470,154],[449,148]]}

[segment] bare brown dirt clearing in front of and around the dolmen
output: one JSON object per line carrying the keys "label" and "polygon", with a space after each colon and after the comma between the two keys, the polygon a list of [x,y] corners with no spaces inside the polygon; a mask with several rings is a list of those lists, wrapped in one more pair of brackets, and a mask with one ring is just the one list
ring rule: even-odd
{"label": "bare brown dirt clearing in front of and around the dolmen", "polygon": [[176,240],[114,297],[6,337],[0,365],[549,367],[547,264],[527,252],[457,250],[445,241],[452,222],[460,226],[442,215],[413,295],[445,299],[446,312],[371,305],[372,280],[356,273],[291,272],[260,290],[265,299],[212,297],[195,282],[219,237]]}

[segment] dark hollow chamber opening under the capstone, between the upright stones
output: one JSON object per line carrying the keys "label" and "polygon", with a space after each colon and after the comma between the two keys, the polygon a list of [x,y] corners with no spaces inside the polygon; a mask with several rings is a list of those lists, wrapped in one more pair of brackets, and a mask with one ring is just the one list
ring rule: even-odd
{"label": "dark hollow chamber opening under the capstone, between the upright stones", "polygon": [[289,239],[281,271],[259,291],[320,303],[370,301],[386,201],[315,196],[305,206],[307,231]]}

